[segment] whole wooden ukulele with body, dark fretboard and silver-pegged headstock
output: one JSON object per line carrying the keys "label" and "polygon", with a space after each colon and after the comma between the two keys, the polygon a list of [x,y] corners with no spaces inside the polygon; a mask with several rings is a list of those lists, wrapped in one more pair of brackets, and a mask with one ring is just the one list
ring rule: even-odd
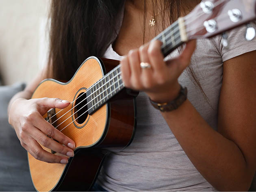
{"label": "whole wooden ukulele with body, dark fretboard and silver-pegged headstock", "polygon": [[[256,19],[256,0],[206,0],[185,17],[180,17],[153,40],[163,42],[167,56],[191,39],[204,39],[247,25],[245,37],[255,37],[249,24]],[[33,185],[37,191],[86,191],[95,183],[109,150],[127,147],[135,135],[136,96],[125,88],[119,61],[87,58],[69,82],[43,80],[32,98],[60,97],[72,101],[65,109],[50,109],[43,117],[74,140],[74,157],[67,164],[50,164],[28,153]],[[41,146],[44,150],[61,155]]]}

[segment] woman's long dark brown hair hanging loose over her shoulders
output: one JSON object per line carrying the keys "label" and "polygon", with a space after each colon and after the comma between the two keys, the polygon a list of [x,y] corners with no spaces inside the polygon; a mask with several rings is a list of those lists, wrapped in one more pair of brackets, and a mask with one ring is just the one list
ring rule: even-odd
{"label": "woman's long dark brown hair hanging loose over her shoulders", "polygon": [[[184,9],[192,9],[187,6],[188,2],[189,0],[163,0],[161,3],[158,0],[152,1],[155,7],[154,15],[157,9],[169,10],[161,15],[162,19],[158,24],[160,23],[163,28],[160,30],[166,26],[164,19],[166,16],[169,17],[169,24],[171,24]],[[124,3],[125,0],[52,0],[49,15],[49,77],[68,81],[86,58],[102,57],[117,36],[118,14]],[[146,11],[146,0],[144,0],[144,23]],[[159,31],[159,28],[155,29]],[[145,25],[143,42],[145,42]],[[193,83],[200,88],[208,101],[191,65],[187,71]]]}

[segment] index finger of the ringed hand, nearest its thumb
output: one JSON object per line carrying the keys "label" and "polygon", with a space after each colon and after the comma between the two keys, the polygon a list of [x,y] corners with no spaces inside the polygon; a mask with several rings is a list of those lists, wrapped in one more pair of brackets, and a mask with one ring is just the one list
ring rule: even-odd
{"label": "index finger of the ringed hand, nearest its thumb", "polygon": [[166,67],[164,57],[161,52],[161,41],[152,41],[148,47],[148,58],[154,72],[162,73]]}

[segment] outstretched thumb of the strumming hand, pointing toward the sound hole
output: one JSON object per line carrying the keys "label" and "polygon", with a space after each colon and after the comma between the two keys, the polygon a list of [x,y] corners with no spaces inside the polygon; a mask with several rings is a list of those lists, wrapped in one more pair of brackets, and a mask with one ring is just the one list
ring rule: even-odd
{"label": "outstretched thumb of the strumming hand, pointing toward the sound hole", "polygon": [[63,109],[65,107],[69,106],[70,102],[66,101],[66,100],[59,99],[59,98],[47,98],[46,97],[46,98],[38,99],[37,104],[44,108],[44,110],[40,112],[41,114],[42,113],[44,114],[50,108]]}

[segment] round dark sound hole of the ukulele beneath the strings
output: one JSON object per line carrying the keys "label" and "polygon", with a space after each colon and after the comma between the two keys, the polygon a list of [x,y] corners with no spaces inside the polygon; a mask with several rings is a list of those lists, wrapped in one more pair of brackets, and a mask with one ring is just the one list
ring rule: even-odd
{"label": "round dark sound hole of the ukulele beneath the strings", "polygon": [[79,124],[84,123],[88,116],[86,93],[85,94],[84,93],[85,92],[80,93],[75,101],[74,116],[75,116],[76,122]]}

